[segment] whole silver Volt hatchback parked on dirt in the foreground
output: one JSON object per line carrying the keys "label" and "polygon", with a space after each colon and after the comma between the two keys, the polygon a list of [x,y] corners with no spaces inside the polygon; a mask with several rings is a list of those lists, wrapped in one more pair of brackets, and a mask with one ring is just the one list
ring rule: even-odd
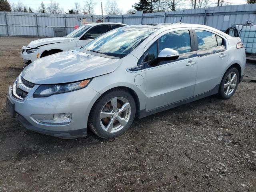
{"label": "whole silver Volt hatchback parked on dirt in the foreground", "polygon": [[29,130],[60,138],[124,133],[136,117],[219,94],[244,74],[240,38],[196,24],[111,30],[81,49],[32,62],[9,87],[7,109]]}

